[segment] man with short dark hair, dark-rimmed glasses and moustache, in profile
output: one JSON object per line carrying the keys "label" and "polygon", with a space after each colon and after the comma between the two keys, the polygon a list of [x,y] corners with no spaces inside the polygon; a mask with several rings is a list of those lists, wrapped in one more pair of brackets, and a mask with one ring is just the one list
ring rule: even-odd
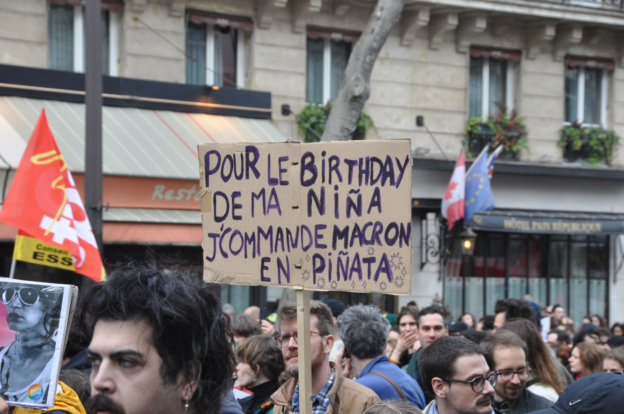
{"label": "man with short dark hair, dark-rimmed glasses and moustache, in profile", "polygon": [[425,414],[501,414],[492,408],[497,373],[485,350],[469,339],[446,336],[418,354],[422,381],[434,400]]}

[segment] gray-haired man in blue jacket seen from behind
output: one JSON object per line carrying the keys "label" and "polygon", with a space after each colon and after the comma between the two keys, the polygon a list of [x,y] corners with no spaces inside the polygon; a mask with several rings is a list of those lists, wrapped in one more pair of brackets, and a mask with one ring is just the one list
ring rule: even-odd
{"label": "gray-haired man in blue jacket seen from behind", "polygon": [[338,317],[336,327],[358,375],[356,382],[382,400],[407,400],[424,408],[425,398],[416,380],[384,355],[390,323],[378,307],[351,306]]}

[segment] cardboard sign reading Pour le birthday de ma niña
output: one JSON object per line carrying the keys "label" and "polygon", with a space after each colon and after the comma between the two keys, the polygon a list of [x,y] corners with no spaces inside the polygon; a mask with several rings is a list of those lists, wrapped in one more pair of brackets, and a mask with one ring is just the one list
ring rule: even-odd
{"label": "cardboard sign reading Pour le birthday de ma ni\u00f1a", "polygon": [[411,291],[409,140],[198,152],[205,281]]}

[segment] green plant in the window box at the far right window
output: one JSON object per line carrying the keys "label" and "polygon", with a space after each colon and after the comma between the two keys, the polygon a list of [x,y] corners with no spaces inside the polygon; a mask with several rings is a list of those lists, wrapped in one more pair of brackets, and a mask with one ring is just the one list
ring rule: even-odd
{"label": "green plant in the window box at the far right window", "polygon": [[[585,127],[579,122],[573,122],[561,128],[561,138],[557,145],[563,148],[568,155],[576,152],[584,156],[591,165],[604,162],[611,164],[613,148],[620,143],[620,137],[612,130],[607,131],[600,127]],[[565,155],[565,154],[564,154]]]}

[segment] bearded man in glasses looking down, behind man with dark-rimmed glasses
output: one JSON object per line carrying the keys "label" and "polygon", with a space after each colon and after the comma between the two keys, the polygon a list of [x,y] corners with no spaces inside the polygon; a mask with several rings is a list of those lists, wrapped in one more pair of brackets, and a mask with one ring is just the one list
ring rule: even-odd
{"label": "bearded man in glasses looking down, behind man with dark-rimmed glasses", "polygon": [[504,414],[524,414],[553,404],[525,387],[531,368],[527,362],[527,344],[514,332],[499,330],[485,337],[481,347],[487,352],[485,360],[492,371],[498,373],[494,386],[494,406]]}

